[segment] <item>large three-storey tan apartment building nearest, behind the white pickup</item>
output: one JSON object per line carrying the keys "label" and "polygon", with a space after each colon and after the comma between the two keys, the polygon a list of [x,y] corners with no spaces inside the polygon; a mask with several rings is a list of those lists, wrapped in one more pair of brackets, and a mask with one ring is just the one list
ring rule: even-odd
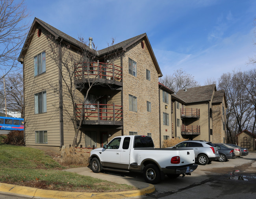
{"label": "large three-storey tan apartment building nearest, behind the white pickup", "polygon": [[[57,50],[52,51],[51,45]],[[70,76],[67,68],[72,63],[65,59],[81,57],[84,50],[88,56],[71,65]],[[146,33],[96,51],[91,42],[85,46],[35,18],[19,61],[24,74],[26,146],[59,150],[72,144],[74,128],[81,125],[77,146],[101,147],[115,136],[137,134],[152,136],[160,147],[158,78],[162,74]],[[75,87],[75,111],[67,83]]]}

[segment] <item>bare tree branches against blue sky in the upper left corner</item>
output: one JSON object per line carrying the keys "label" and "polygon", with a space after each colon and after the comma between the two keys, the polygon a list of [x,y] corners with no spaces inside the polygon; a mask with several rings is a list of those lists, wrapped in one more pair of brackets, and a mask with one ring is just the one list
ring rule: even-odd
{"label": "bare tree branches against blue sky in the upper left corner", "polygon": [[0,2],[0,72],[6,76],[17,67],[18,53],[27,35],[28,17],[24,0],[1,0]]}

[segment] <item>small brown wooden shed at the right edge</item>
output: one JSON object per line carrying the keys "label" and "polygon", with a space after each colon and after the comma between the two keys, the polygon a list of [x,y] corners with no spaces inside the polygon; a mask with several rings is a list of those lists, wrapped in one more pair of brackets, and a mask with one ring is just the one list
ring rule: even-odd
{"label": "small brown wooden shed at the right edge", "polygon": [[256,135],[250,133],[246,129],[236,135],[237,145],[240,147],[248,148],[249,151],[256,150],[255,141]]}

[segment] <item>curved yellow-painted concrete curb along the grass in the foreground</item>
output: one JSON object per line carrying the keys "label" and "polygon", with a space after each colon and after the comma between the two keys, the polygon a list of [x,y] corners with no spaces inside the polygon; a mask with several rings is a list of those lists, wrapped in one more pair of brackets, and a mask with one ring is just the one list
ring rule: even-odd
{"label": "curved yellow-painted concrete curb along the grass in the foreground", "polygon": [[132,190],[125,192],[102,192],[102,193],[90,193],[90,192],[61,192],[54,190],[37,189],[27,186],[5,184],[0,182],[0,192],[14,193],[21,195],[28,195],[32,197],[45,197],[45,198],[125,198],[144,195],[155,191],[153,184],[148,184],[147,188],[140,190]]}

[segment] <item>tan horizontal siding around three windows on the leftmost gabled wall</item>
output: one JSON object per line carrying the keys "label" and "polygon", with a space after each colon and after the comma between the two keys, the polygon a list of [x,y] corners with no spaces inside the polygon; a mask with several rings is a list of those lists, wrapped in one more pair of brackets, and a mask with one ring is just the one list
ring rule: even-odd
{"label": "tan horizontal siding around three windows on the leftmost gabled wall", "polygon": [[[42,27],[40,27],[42,28]],[[26,145],[59,146],[58,97],[49,85],[58,84],[58,70],[49,59],[47,32],[42,28],[41,37],[33,33],[32,42],[24,57],[24,99],[25,99],[25,133]],[[34,76],[34,57],[46,52],[46,72]],[[35,114],[34,94],[46,91],[47,112]],[[48,144],[35,144],[35,131],[47,131]]]}

